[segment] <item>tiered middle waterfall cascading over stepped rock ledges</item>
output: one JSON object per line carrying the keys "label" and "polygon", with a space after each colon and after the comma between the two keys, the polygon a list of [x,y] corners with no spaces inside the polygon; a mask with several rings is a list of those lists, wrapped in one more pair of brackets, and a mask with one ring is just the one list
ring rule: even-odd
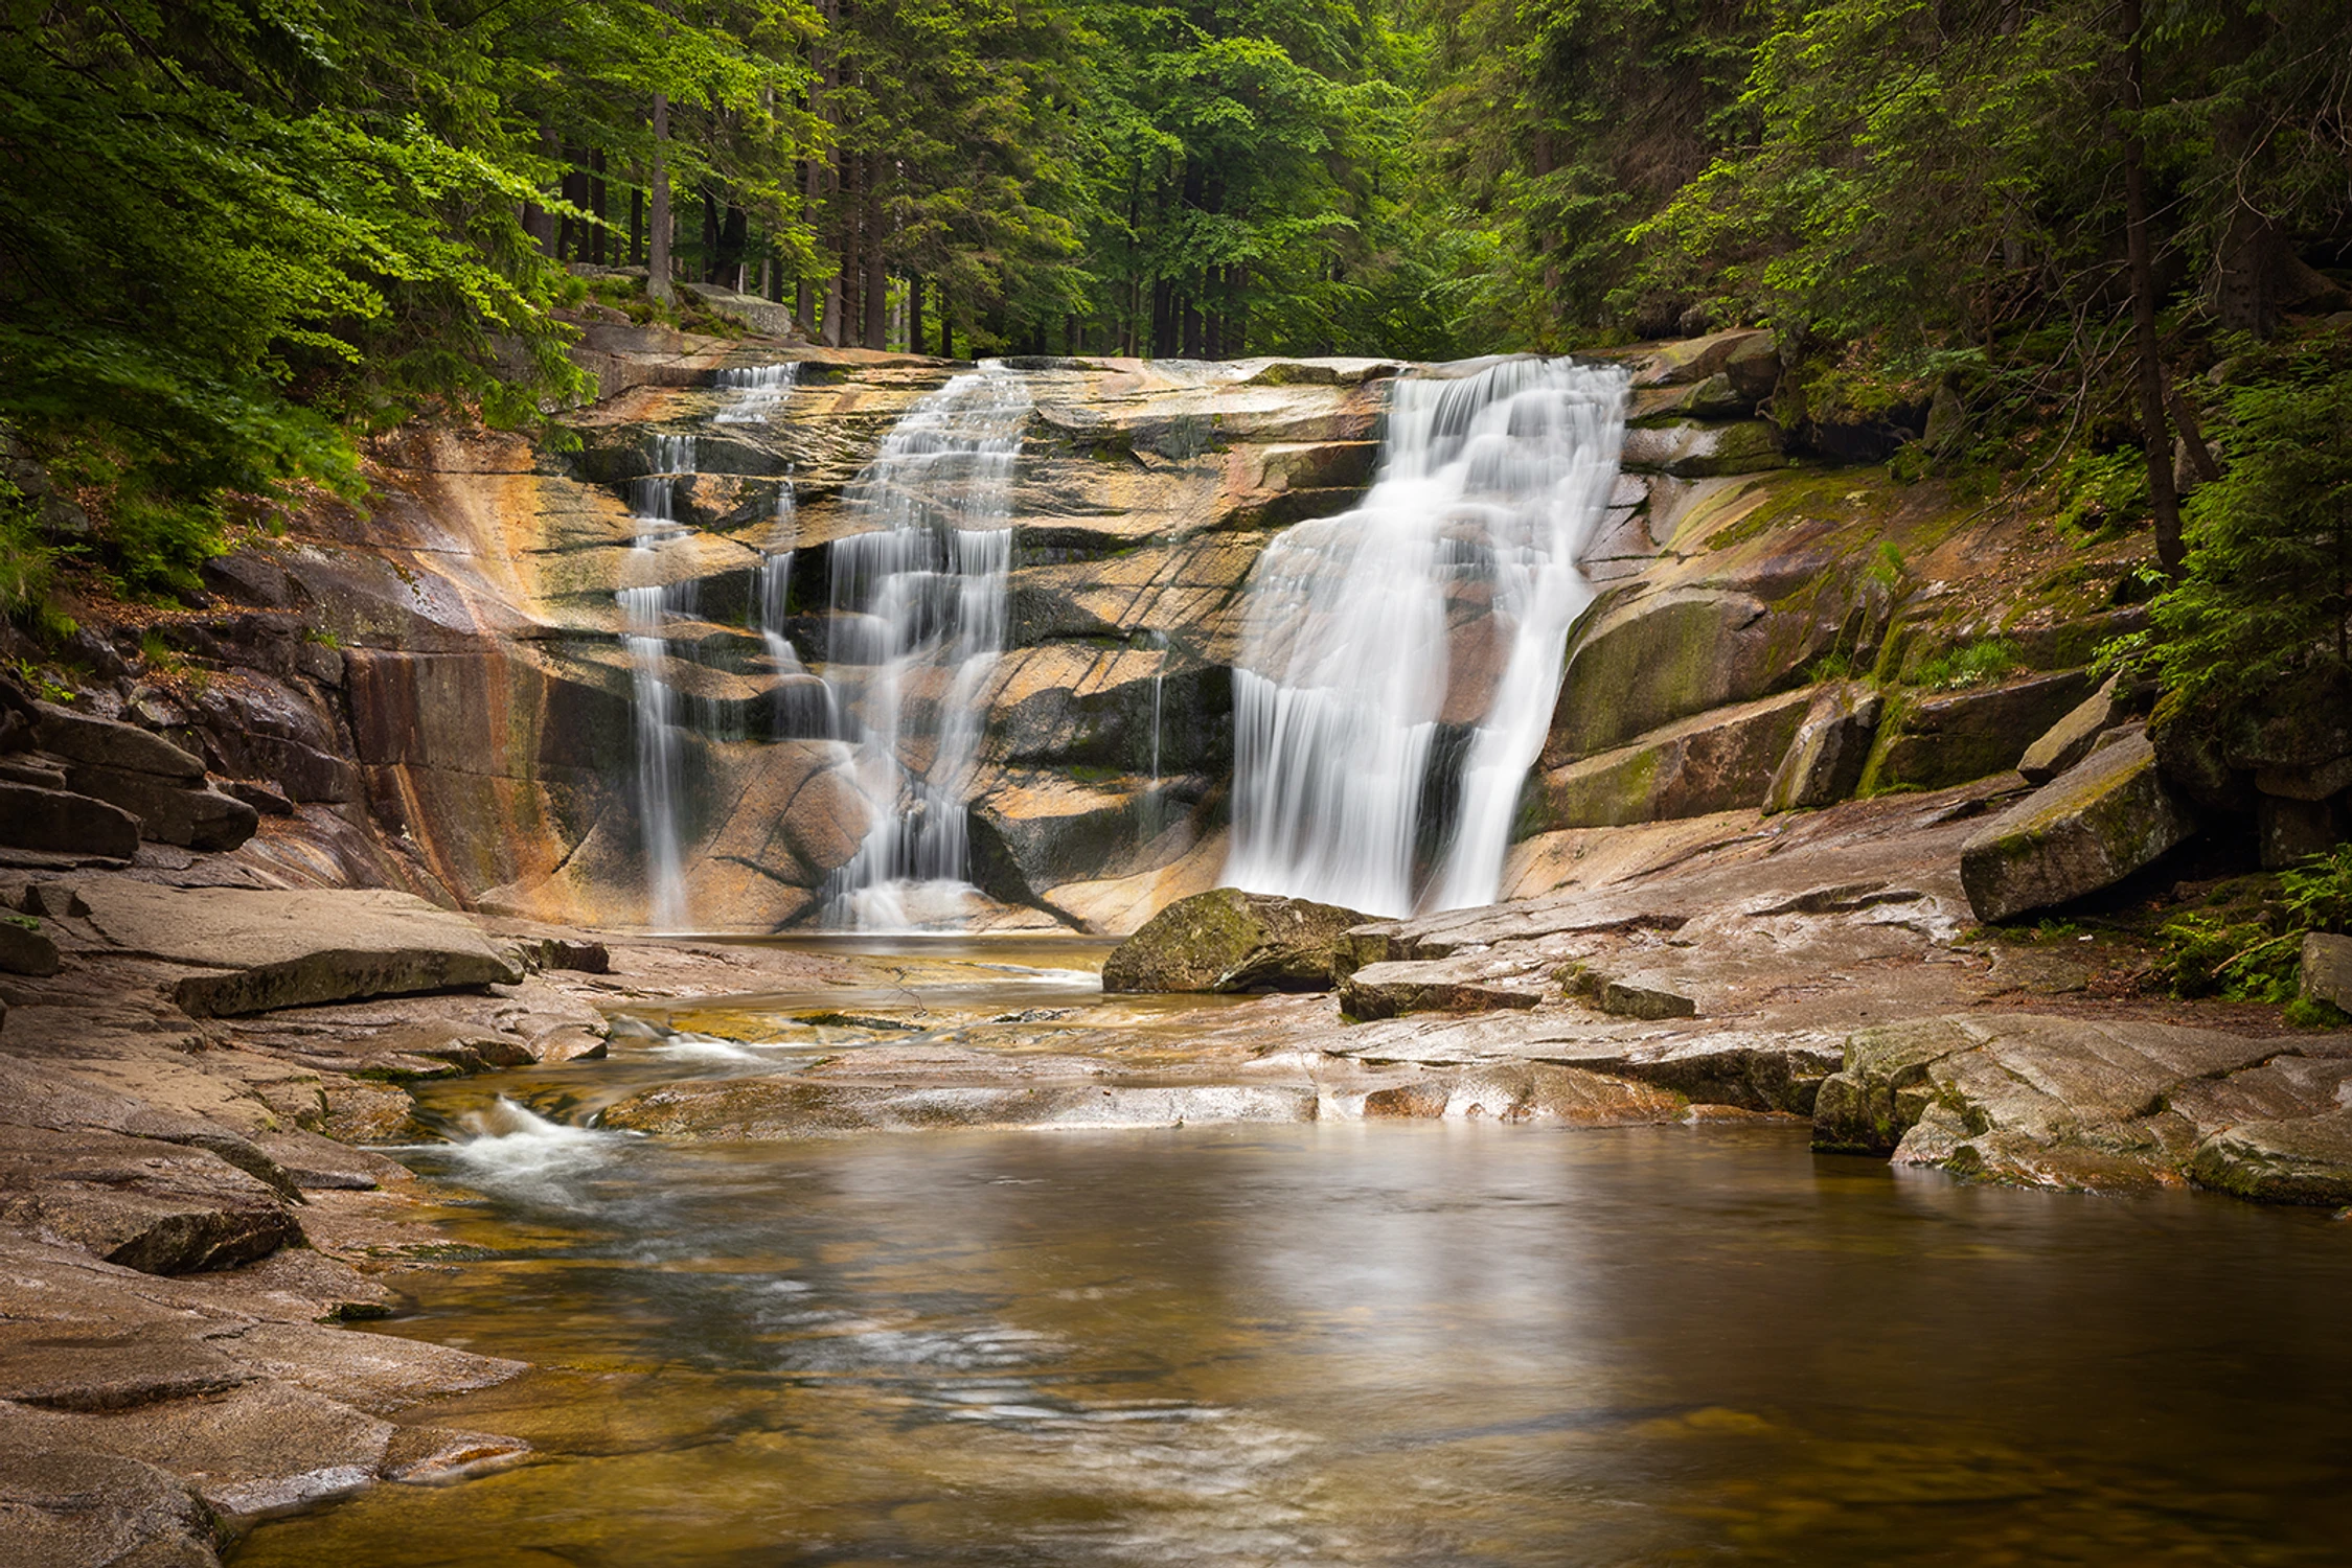
{"label": "tiered middle waterfall cascading over stepped rock ledges", "polygon": [[826,924],[903,929],[960,905],[1028,414],[1023,381],[983,362],[922,397],[844,496],[873,527],[833,543],[826,684],[873,827],[826,884]]}

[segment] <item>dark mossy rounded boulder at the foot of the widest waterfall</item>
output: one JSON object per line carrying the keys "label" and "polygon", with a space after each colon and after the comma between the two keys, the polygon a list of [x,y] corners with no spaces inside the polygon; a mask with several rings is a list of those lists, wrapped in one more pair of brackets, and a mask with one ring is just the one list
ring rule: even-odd
{"label": "dark mossy rounded boulder at the foot of the widest waterfall", "polygon": [[1105,992],[1329,990],[1331,954],[1369,917],[1211,889],[1171,903],[1103,959]]}

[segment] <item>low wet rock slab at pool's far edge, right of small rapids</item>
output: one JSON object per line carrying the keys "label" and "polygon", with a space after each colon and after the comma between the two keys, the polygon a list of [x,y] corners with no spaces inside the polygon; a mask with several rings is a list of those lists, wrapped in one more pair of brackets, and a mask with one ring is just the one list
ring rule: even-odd
{"label": "low wet rock slab at pool's far edge, right of small rapids", "polygon": [[703,1143],[938,1128],[1124,1128],[1312,1121],[1315,1091],[1275,1084],[868,1086],[802,1077],[666,1084],[597,1126]]}

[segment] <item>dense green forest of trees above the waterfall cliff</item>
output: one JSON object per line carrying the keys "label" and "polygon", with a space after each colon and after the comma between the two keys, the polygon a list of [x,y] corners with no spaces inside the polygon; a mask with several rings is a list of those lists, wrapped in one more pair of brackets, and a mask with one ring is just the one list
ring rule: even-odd
{"label": "dense green forest of trees above the waterfall cliff", "polygon": [[2338,0],[14,0],[0,421],[92,527],[12,484],[0,602],[546,423],[684,280],[967,357],[1764,324],[1816,449],[2194,545],[2178,679],[2352,611]]}

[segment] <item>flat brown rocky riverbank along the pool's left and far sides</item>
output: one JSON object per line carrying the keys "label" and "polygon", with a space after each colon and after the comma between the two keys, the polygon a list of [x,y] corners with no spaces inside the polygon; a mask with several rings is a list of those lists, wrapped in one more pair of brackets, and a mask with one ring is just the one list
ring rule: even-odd
{"label": "flat brown rocky riverbank along the pool's left and far sides", "polygon": [[[1338,994],[1103,999],[1103,943],[583,933],[205,886],[212,856],[12,870],[54,971],[0,980],[9,1528],[202,1563],[285,1509],[527,1460],[419,1420],[520,1361],[334,1326],[463,1267],[447,1190],[365,1145],[463,1138],[416,1095],[482,1072],[663,1147],[1757,1121],[2011,1185],[2326,1199],[2352,1037],[2133,994],[2112,931],[1976,929],[1957,846],[2002,795],[1555,842],[1562,891],[1359,929]],[[2227,1180],[2230,1150],[2300,1187]]]}

